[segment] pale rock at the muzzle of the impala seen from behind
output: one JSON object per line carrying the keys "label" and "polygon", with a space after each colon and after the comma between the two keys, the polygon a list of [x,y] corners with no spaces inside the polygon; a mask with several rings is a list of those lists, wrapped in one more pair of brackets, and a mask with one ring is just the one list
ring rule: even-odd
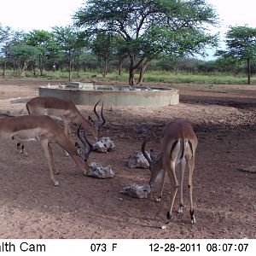
{"label": "pale rock at the muzzle of the impala seen from behind", "polygon": [[128,184],[124,189],[120,191],[121,194],[130,195],[131,197],[137,198],[148,198],[148,193],[150,193],[149,184]]}

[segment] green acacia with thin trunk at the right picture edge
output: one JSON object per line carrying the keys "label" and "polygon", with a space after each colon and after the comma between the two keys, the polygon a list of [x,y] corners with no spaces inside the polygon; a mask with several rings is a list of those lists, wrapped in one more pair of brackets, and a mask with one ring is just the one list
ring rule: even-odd
{"label": "green acacia with thin trunk at the right picture edge", "polygon": [[251,84],[251,61],[256,57],[256,28],[230,26],[226,33],[227,50],[218,50],[225,59],[247,62],[247,83]]}

